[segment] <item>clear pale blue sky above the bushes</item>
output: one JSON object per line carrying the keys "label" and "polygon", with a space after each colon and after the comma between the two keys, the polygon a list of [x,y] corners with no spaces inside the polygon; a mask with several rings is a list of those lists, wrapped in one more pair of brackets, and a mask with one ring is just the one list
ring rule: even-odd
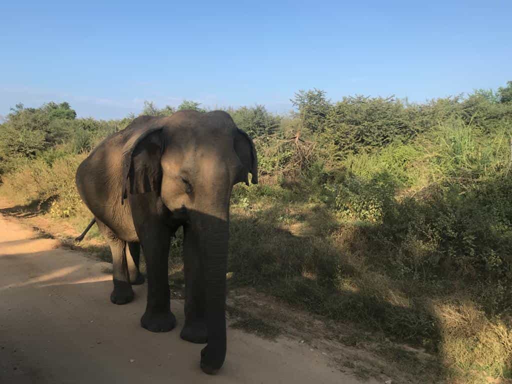
{"label": "clear pale blue sky above the bushes", "polygon": [[512,2],[416,3],[4,2],[0,115],[51,100],[96,118],[144,100],[285,112],[299,89],[424,101],[512,80]]}

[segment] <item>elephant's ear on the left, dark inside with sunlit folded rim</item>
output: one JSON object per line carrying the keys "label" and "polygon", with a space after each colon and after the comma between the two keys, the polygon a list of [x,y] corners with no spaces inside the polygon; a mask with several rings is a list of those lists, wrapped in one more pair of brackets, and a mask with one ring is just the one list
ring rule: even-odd
{"label": "elephant's ear on the left, dark inside with sunlit folded rim", "polygon": [[121,203],[130,194],[158,190],[162,184],[160,159],[163,152],[162,127],[150,126],[126,141],[122,159]]}

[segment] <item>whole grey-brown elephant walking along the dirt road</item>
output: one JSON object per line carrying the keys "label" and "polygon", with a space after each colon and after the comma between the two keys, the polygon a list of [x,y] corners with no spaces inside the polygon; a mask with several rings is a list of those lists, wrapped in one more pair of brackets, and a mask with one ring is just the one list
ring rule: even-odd
{"label": "whole grey-brown elephant walking along the dirt road", "polygon": [[[140,116],[106,137],[78,166],[78,193],[108,240],[113,260],[111,301],[133,300],[141,282],[147,302],[140,324],[152,332],[175,328],[167,258],[183,227],[185,324],[181,338],[207,343],[201,369],[215,374],[226,356],[226,272],[229,201],[234,184],[258,183],[253,141],[223,111]],[[92,223],[94,224],[94,223]],[[91,225],[92,225],[91,224]]]}

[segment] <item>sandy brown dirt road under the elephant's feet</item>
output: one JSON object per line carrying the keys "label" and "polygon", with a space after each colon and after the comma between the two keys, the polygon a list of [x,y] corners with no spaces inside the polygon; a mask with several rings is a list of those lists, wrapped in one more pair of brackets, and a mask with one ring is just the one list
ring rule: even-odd
{"label": "sandy brown dirt road under the elephant's feet", "polygon": [[183,302],[171,304],[177,329],[148,332],[139,325],[146,285],[134,287],[134,302],[116,306],[110,271],[0,216],[0,383],[358,382],[306,344],[234,329],[224,368],[207,376],[203,346],[179,338]]}

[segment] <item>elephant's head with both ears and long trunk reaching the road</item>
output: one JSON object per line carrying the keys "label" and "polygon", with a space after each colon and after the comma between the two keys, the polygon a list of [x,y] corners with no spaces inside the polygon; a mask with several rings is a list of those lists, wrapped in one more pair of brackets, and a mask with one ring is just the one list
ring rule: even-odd
{"label": "elephant's head with both ears and long trunk reaching the road", "polygon": [[[139,118],[123,152],[122,199],[158,191],[170,220],[183,224],[185,247],[200,254],[208,345],[201,353],[207,373],[226,354],[225,292],[232,186],[258,183],[258,160],[249,136],[221,111],[181,111]],[[129,133],[127,133],[129,134]],[[187,238],[189,243],[187,245]],[[190,240],[193,239],[193,240]]]}

